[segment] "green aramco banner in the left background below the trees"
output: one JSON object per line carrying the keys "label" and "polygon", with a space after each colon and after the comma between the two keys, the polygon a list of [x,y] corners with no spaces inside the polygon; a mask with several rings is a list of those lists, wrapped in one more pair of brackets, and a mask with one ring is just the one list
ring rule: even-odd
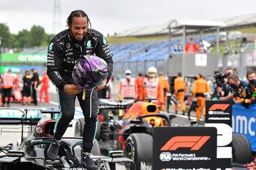
{"label": "green aramco banner in the left background below the trees", "polygon": [[1,62],[47,62],[43,54],[2,54]]}

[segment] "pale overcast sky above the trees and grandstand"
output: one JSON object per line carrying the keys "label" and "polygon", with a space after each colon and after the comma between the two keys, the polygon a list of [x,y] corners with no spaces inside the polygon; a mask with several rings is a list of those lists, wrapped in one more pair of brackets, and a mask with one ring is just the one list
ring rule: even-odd
{"label": "pale overcast sky above the trees and grandstand", "polygon": [[[84,10],[92,28],[104,35],[172,19],[219,19],[256,12],[255,0],[60,0],[60,30],[71,11]],[[0,23],[11,33],[33,25],[54,33],[54,0],[0,0]]]}

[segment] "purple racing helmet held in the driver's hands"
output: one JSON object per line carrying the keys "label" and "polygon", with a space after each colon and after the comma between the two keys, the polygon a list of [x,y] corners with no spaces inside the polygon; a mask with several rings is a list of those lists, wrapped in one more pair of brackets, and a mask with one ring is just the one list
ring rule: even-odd
{"label": "purple racing helmet held in the driver's hands", "polygon": [[107,63],[97,56],[82,56],[73,68],[72,78],[81,89],[92,90],[107,78]]}

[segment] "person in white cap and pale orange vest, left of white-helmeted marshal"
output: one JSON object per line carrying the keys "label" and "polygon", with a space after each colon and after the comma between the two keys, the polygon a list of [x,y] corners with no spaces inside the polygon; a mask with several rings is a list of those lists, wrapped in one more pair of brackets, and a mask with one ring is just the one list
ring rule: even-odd
{"label": "person in white cap and pale orange vest, left of white-helmeted marshal", "polygon": [[137,84],[134,78],[132,78],[130,75],[132,74],[131,70],[126,70],[126,78],[122,79],[120,81],[120,87],[119,87],[119,98],[122,99],[136,99],[137,98]]}

